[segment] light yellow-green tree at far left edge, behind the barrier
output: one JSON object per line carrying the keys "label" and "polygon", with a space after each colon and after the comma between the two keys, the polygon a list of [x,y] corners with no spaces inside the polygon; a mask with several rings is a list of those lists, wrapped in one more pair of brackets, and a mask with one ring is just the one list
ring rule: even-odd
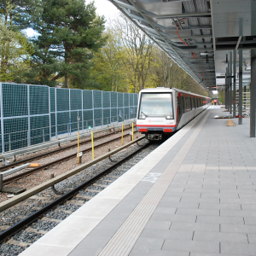
{"label": "light yellow-green tree at far left edge, behind the barrier", "polygon": [[[0,20],[0,79],[3,82],[13,81],[29,67],[29,56],[32,55],[32,45],[28,43],[19,28],[24,28],[24,22],[20,21],[20,13],[17,9],[25,7],[26,1],[3,1]],[[20,6],[17,5],[20,3]],[[21,24],[23,24],[21,26]]]}

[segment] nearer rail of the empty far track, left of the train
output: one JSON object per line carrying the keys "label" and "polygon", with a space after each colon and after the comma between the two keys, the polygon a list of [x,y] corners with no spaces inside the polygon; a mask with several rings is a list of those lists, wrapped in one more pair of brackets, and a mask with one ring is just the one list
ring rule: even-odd
{"label": "nearer rail of the empty far track, left of the train", "polygon": [[[124,137],[127,137],[127,136],[129,136],[129,135],[130,135],[130,134],[125,134]],[[113,138],[112,140],[109,140],[108,142],[98,144],[98,145],[94,146],[94,148],[100,148],[100,147],[102,147],[102,146],[104,146],[104,145],[106,145],[106,144],[108,144],[108,143],[113,143],[114,141],[119,140],[119,138],[121,138],[121,136],[115,137],[115,138]],[[90,151],[90,150],[91,150],[91,148],[86,148],[86,149],[84,149],[84,150],[81,150],[81,152],[86,153],[86,152],[88,152],[88,151]],[[38,166],[38,167],[33,168],[33,169],[31,169],[31,170],[28,170],[28,171],[26,171],[26,172],[21,172],[20,174],[16,174],[15,176],[5,178],[5,179],[3,180],[3,184],[7,184],[7,183],[14,182],[15,180],[18,180],[18,179],[20,179],[20,178],[22,178],[22,177],[29,176],[29,175],[31,175],[31,174],[34,173],[34,172],[41,171],[41,170],[43,170],[43,169],[45,169],[45,168],[48,168],[49,166],[54,166],[55,164],[57,164],[57,163],[59,163],[59,162],[61,162],[61,161],[65,161],[65,160],[71,159],[71,158],[76,157],[76,156],[77,156],[77,153],[69,154],[69,155],[67,155],[67,156],[65,156],[65,157],[62,157],[62,158],[58,159],[58,160],[54,160],[54,161],[52,161],[52,162],[49,162],[49,163],[47,163],[47,164],[45,164],[45,165],[43,165],[43,166]]]}

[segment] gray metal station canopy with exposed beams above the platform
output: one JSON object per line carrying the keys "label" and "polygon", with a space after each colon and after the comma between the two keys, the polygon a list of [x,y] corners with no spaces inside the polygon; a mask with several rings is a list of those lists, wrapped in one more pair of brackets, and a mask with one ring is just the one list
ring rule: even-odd
{"label": "gray metal station canopy with exposed beams above the platform", "polygon": [[256,1],[109,1],[206,89],[224,89],[227,63],[236,49],[243,49],[243,84],[250,83]]}

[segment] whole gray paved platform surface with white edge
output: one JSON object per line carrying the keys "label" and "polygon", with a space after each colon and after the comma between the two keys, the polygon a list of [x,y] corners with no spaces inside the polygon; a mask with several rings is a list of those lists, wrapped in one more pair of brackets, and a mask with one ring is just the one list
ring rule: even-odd
{"label": "whole gray paved platform surface with white edge", "polygon": [[212,106],[21,253],[256,255],[256,139]]}

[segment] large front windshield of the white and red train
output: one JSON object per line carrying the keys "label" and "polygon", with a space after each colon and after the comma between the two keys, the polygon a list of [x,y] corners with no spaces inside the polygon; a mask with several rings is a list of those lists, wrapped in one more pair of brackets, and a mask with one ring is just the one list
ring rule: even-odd
{"label": "large front windshield of the white and red train", "polygon": [[172,93],[143,93],[139,110],[139,119],[147,117],[165,117],[173,119]]}

